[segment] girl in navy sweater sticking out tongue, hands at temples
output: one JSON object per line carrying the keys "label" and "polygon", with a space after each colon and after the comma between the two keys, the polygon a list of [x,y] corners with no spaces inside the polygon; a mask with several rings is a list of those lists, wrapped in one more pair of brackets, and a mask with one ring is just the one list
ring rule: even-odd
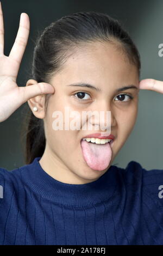
{"label": "girl in navy sweater sticking out tongue, hands at temples", "polygon": [[[140,56],[128,33],[102,13],[62,17],[37,39],[33,79],[18,87],[29,17],[21,14],[7,57],[2,15],[0,121],[26,101],[30,116],[26,165],[0,172],[0,244],[161,245],[162,170],[111,165],[136,122],[139,90],[162,93],[161,82],[139,81]],[[80,114],[78,124],[84,111],[110,111],[111,134],[105,117],[96,133],[83,123],[55,129],[55,111],[65,118],[65,107]]]}

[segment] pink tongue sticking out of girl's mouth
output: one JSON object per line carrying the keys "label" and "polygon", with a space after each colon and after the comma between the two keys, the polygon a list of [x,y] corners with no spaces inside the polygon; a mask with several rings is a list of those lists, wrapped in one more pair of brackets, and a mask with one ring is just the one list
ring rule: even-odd
{"label": "pink tongue sticking out of girl's mouth", "polygon": [[109,143],[96,144],[81,142],[83,157],[87,165],[93,170],[104,170],[109,166],[112,150]]}

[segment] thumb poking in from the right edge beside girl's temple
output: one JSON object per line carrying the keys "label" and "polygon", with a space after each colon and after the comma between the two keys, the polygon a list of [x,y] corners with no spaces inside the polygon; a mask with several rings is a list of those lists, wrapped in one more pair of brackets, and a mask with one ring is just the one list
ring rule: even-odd
{"label": "thumb poking in from the right edge beside girl's temple", "polygon": [[163,82],[155,79],[143,79],[139,83],[139,89],[163,93]]}

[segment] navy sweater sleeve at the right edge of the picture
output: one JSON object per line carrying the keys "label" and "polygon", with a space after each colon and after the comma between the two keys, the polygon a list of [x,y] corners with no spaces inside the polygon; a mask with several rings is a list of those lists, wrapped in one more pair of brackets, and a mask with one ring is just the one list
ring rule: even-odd
{"label": "navy sweater sleeve at the right edge of the picture", "polygon": [[131,161],[125,171],[124,184],[130,197],[127,205],[135,202],[132,209],[139,216],[143,244],[162,245],[163,169],[147,170],[140,163]]}

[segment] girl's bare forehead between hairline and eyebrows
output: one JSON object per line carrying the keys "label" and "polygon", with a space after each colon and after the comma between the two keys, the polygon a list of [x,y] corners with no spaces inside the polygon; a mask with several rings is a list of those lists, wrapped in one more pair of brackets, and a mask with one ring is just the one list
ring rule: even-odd
{"label": "girl's bare forehead between hairline and eyebrows", "polygon": [[[67,59],[61,71],[62,81],[95,83],[136,83],[139,81],[137,68],[114,44],[94,42],[79,49]],[[71,81],[70,81],[71,80]]]}

